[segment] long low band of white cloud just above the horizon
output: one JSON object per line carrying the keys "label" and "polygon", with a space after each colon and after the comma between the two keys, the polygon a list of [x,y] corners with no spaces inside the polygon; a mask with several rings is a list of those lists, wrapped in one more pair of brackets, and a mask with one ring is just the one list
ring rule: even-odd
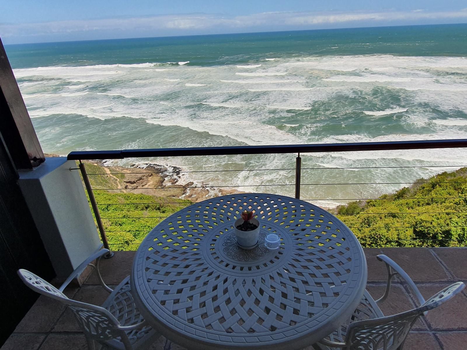
{"label": "long low band of white cloud just above the horizon", "polygon": [[[467,9],[460,11],[427,12],[389,11],[389,12],[265,12],[245,16],[228,17],[217,14],[176,14],[128,18],[107,18],[94,20],[51,21],[42,23],[0,24],[0,36],[12,40],[39,36],[65,38],[72,34],[82,34],[92,39],[96,32],[152,33],[164,35],[191,30],[212,32],[241,31],[242,28],[261,28],[276,26],[277,28],[319,27],[330,25],[356,25],[358,22],[374,23],[423,20],[456,20],[467,19]],[[196,33],[192,33],[196,34]]]}

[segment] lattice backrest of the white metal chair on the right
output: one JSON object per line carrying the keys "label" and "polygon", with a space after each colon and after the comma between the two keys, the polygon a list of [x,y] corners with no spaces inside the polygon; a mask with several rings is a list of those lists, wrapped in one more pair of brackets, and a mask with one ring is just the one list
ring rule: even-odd
{"label": "lattice backrest of the white metal chair on the right", "polygon": [[371,320],[350,323],[346,334],[347,350],[396,350],[405,341],[412,325],[426,311],[438,307],[460,293],[464,283],[457,282],[433,295],[412,310]]}

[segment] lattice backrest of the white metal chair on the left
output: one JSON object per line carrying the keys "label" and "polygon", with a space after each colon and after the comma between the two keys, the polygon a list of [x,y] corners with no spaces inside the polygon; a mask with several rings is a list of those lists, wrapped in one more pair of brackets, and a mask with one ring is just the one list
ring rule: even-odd
{"label": "lattice backrest of the white metal chair on the left", "polygon": [[119,329],[120,323],[105,308],[69,299],[49,282],[28,270],[20,269],[18,275],[35,292],[68,305],[86,336],[96,340],[126,337],[125,332]]}

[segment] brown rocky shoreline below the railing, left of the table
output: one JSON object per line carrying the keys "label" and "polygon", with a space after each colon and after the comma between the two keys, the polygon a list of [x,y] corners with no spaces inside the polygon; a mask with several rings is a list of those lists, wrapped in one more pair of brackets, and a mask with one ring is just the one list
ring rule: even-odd
{"label": "brown rocky shoreline below the railing, left of the table", "polygon": [[[58,157],[46,154],[46,157]],[[209,183],[195,183],[182,168],[154,163],[131,164],[129,167],[107,165],[106,161],[83,161],[93,189],[109,192],[139,193],[200,202],[216,196],[245,193],[236,189],[219,189]]]}

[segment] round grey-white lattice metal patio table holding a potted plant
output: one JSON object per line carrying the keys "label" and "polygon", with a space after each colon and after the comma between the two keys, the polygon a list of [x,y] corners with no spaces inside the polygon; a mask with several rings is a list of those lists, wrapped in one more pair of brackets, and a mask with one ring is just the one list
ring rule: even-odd
{"label": "round grey-white lattice metal patio table holding a potted plant", "polygon": [[[236,244],[234,221],[255,210],[256,248]],[[266,234],[279,249],[264,246]],[[351,316],[365,291],[357,238],[327,211],[287,196],[221,196],[167,217],[144,239],[131,273],[136,305],[189,350],[302,349]]]}

